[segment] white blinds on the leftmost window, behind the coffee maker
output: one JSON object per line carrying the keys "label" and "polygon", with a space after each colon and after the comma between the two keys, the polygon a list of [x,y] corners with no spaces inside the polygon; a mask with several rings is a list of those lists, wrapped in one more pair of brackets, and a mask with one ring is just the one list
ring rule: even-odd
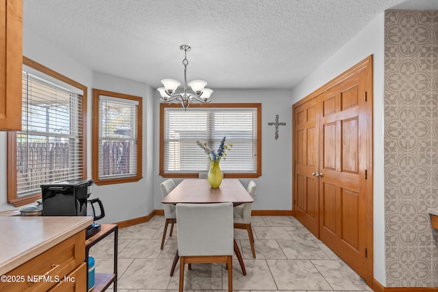
{"label": "white blinds on the leftmost window, behind the coffee maker", "polygon": [[23,122],[17,132],[17,198],[40,185],[81,178],[82,96],[23,72]]}

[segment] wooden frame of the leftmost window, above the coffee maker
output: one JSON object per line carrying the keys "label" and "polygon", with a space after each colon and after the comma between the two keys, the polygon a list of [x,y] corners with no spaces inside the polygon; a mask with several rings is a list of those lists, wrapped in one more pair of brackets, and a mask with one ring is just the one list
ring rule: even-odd
{"label": "wooden frame of the leftmost window, above the coffee maker", "polygon": [[[73,79],[70,79],[50,68],[47,68],[46,66],[39,64],[38,62],[35,62],[32,59],[29,59],[28,57],[23,56],[23,65],[28,66],[30,68],[33,68],[35,70],[38,70],[39,72],[48,75],[50,77],[53,77],[59,81],[62,81],[64,83],[67,83],[68,85],[71,85],[79,90],[82,90],[83,94],[82,94],[82,116],[78,117],[79,120],[82,120],[82,131],[81,131],[81,135],[79,135],[79,148],[82,149],[82,161],[79,160],[79,163],[81,163],[82,165],[82,171],[81,171],[81,179],[85,179],[87,177],[87,143],[86,143],[86,137],[87,137],[87,133],[86,133],[86,129],[87,129],[87,123],[86,123],[86,117],[87,117],[87,94],[88,94],[88,88],[77,82],[74,81]],[[16,168],[16,131],[8,131],[8,146],[7,146],[8,150],[8,154],[7,154],[7,159],[8,159],[8,166],[7,166],[7,170],[8,170],[8,174],[7,174],[7,198],[8,198],[8,203],[14,205],[14,207],[20,207],[23,206],[24,204],[29,204],[31,202],[35,202],[36,200],[40,199],[42,197],[41,193],[38,194],[33,194],[33,195],[29,195],[29,196],[24,196],[21,198],[17,197],[16,194],[16,172],[17,172],[17,168]]]}

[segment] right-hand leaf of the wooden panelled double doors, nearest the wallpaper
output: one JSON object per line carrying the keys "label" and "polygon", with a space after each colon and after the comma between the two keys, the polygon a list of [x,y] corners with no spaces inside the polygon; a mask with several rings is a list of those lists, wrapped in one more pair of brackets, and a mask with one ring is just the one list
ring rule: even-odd
{"label": "right-hand leaf of the wooden panelled double doors, nearest the wallpaper", "polygon": [[[364,71],[318,96],[320,239],[366,278]],[[365,159],[365,163],[363,163]]]}

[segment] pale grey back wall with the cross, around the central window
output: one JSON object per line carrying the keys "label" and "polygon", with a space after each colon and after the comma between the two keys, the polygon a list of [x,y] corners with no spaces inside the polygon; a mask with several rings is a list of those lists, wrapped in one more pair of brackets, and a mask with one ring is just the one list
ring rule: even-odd
{"label": "pale grey back wall with the cross, around the central window", "polygon": [[[261,103],[261,176],[253,178],[257,183],[257,200],[253,209],[292,210],[292,90],[218,90],[211,95],[213,103]],[[158,92],[155,100],[159,100]],[[159,113],[159,103],[155,103]],[[190,107],[188,109],[190,111]],[[285,126],[279,127],[279,139],[275,140],[275,115]],[[155,209],[163,209],[159,183],[166,178],[159,176],[159,114],[154,117],[154,194]],[[231,149],[232,151],[232,149]],[[181,179],[175,179],[179,183]],[[240,179],[246,185],[250,179]]]}

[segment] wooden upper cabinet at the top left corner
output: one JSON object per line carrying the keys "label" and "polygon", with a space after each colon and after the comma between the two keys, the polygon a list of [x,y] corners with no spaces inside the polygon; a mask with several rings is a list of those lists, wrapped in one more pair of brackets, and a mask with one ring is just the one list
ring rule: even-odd
{"label": "wooden upper cabinet at the top left corner", "polygon": [[23,0],[0,0],[0,130],[21,130]]}

